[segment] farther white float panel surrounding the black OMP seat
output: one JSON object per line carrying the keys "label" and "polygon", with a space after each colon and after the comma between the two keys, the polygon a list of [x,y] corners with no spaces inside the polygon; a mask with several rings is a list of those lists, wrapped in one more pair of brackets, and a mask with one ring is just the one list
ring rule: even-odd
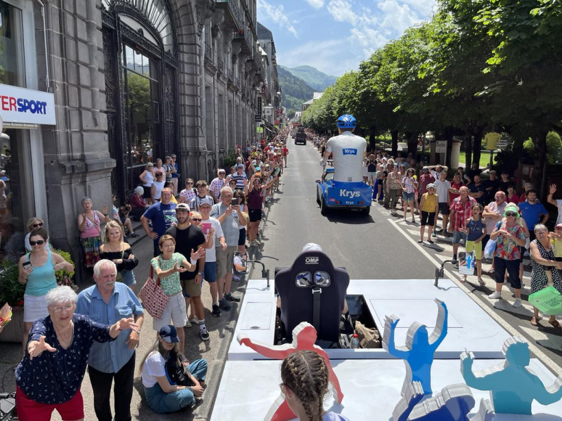
{"label": "farther white float panel surrounding the black OMP seat", "polygon": [[[400,317],[395,331],[396,346],[403,346],[406,332],[413,322],[428,326],[428,333],[435,327],[439,298],[447,304],[449,328],[447,337],[435,353],[436,359],[458,359],[465,348],[476,358],[503,358],[502,346],[509,334],[448,279],[408,280],[351,280],[348,296],[364,296],[367,307],[382,337],[384,317],[394,314]],[[234,338],[228,349],[230,361],[266,359],[247,346],[236,341],[243,333],[265,344],[273,344],[275,334],[276,298],[273,281],[269,288],[265,280],[249,280]],[[382,348],[378,349],[329,349],[330,359],[388,359],[393,358]]]}

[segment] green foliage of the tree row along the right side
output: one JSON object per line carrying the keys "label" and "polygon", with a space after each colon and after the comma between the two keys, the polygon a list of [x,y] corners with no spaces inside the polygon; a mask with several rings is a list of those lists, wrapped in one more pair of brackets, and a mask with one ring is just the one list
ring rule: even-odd
{"label": "green foliage of the tree row along the right side", "polygon": [[323,132],[350,112],[360,132],[391,132],[394,145],[400,133],[413,153],[417,134],[461,136],[467,163],[480,161],[486,132],[511,136],[515,156],[530,138],[539,182],[547,154],[561,158],[560,34],[560,0],[438,0],[429,21],[339,77],[302,121]]}

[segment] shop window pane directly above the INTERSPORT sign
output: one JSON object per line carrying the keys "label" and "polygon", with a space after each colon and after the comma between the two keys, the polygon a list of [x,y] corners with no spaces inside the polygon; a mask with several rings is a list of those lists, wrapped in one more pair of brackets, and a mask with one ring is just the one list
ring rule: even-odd
{"label": "shop window pane directly above the INTERSPORT sign", "polygon": [[0,0],[0,23],[0,83],[25,88],[21,10]]}

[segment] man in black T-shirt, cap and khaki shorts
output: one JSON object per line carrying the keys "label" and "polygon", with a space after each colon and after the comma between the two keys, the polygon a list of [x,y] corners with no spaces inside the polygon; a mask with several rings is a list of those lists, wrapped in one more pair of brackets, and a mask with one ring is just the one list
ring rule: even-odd
{"label": "man in black T-shirt, cap and khaki shorts", "polygon": [[[210,197],[209,197],[209,200]],[[185,203],[179,203],[175,208],[175,215],[178,218],[178,224],[169,228],[166,234],[170,234],[175,238],[175,252],[181,253],[186,258],[191,256],[191,252],[199,250],[206,242],[206,238],[201,228],[191,224],[189,221],[189,206]],[[201,301],[201,279],[203,275],[203,267],[205,265],[205,257],[197,260],[197,267],[194,272],[181,272],[180,283],[184,292],[186,302],[186,311],[191,305],[195,309],[195,319],[188,320],[186,327],[191,327],[192,323],[199,325],[199,337],[202,340],[209,340],[209,333],[205,326],[205,309]]]}

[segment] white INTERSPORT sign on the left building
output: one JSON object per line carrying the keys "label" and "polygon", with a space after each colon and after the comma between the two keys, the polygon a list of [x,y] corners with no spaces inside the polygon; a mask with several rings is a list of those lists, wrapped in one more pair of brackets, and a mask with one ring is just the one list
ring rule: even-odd
{"label": "white INTERSPORT sign on the left building", "polygon": [[0,114],[4,123],[56,125],[55,95],[0,84]]}

